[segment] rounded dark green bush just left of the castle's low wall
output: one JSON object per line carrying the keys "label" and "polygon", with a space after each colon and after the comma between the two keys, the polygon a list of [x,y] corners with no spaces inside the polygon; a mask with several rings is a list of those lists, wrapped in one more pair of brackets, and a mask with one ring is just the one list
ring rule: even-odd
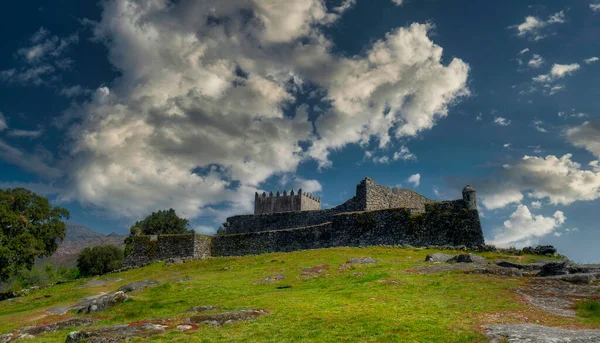
{"label": "rounded dark green bush just left of the castle's low wall", "polygon": [[123,267],[123,249],[114,245],[85,248],[77,258],[83,276],[101,275]]}

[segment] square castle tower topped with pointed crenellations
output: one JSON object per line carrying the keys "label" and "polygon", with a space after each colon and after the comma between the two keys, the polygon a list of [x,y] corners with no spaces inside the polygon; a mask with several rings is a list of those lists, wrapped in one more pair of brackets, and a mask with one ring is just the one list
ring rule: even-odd
{"label": "square castle tower topped with pointed crenellations", "polygon": [[321,209],[321,198],[311,193],[284,190],[283,193],[276,191],[258,194],[254,193],[254,214],[270,214],[280,212],[314,211]]}

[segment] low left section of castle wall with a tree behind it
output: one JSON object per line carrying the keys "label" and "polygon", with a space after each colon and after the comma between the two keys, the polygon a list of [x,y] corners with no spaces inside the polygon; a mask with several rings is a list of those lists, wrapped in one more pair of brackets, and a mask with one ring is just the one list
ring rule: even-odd
{"label": "low left section of castle wall with a tree behind it", "polygon": [[142,266],[169,258],[205,259],[211,256],[211,237],[198,234],[133,236],[124,266]]}

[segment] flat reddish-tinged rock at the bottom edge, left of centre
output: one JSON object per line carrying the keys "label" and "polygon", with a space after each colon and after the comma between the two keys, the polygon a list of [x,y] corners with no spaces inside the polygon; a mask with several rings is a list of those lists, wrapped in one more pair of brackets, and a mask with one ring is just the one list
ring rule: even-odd
{"label": "flat reddish-tinged rock at the bottom edge, left of centre", "polygon": [[144,323],[141,325],[119,324],[90,330],[69,333],[67,343],[112,343],[123,342],[133,337],[150,337],[165,332],[164,325]]}

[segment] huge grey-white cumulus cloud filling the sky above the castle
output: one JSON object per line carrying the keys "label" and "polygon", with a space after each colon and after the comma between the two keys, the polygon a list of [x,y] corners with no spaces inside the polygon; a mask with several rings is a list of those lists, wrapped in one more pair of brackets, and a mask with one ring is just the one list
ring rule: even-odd
{"label": "huge grey-white cumulus cloud filling the sky above the castle", "polygon": [[[262,182],[302,161],[326,167],[333,149],[431,128],[468,94],[469,67],[443,65],[425,24],[391,30],[361,56],[333,53],[323,28],[353,3],[103,3],[94,38],[121,75],[63,118],[64,198],[123,216],[222,217],[249,211]],[[324,113],[298,101],[308,92]]]}

